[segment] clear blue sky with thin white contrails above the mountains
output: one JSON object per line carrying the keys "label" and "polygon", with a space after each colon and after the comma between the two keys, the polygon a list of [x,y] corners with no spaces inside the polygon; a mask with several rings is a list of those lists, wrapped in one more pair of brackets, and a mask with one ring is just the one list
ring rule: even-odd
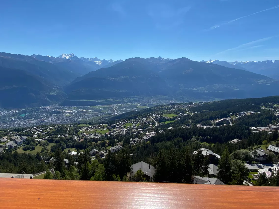
{"label": "clear blue sky with thin white contrails above the mountains", "polygon": [[13,54],[279,59],[277,0],[3,0],[0,18]]}

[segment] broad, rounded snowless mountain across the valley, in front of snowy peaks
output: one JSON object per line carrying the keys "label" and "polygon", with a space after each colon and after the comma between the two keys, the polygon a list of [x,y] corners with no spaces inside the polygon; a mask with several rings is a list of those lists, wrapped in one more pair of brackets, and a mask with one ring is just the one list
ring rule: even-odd
{"label": "broad, rounded snowless mountain across the valley, in front of snowy peaks", "polygon": [[136,97],[210,101],[278,94],[279,81],[232,67],[187,58],[129,58],[64,86],[67,98],[62,104],[101,105],[105,99],[124,101]]}

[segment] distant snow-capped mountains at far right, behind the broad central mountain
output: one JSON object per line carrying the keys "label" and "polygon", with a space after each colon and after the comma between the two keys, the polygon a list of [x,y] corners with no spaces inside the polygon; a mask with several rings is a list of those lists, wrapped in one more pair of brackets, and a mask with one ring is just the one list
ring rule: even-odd
{"label": "distant snow-capped mountains at far right, behind the broad central mountain", "polygon": [[220,60],[201,60],[201,62],[222,65],[258,73],[264,76],[279,80],[279,60],[247,61],[247,62],[226,62]]}

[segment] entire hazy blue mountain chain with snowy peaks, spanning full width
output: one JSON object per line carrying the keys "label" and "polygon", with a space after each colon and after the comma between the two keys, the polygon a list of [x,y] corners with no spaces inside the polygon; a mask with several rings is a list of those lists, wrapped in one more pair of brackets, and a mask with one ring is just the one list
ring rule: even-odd
{"label": "entire hazy blue mountain chain with snowy peaks, spanning full width", "polygon": [[[279,81],[242,67],[255,63],[269,61],[196,62],[183,57],[114,61],[78,58],[73,53],[51,57],[2,52],[0,107],[102,105],[145,97],[210,101],[278,94]],[[277,61],[271,63],[275,66]]]}

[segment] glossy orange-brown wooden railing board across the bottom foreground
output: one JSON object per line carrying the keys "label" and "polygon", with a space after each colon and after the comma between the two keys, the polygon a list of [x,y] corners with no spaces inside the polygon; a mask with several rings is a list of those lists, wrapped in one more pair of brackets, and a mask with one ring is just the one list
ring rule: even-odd
{"label": "glossy orange-brown wooden railing board across the bottom foreground", "polygon": [[279,208],[279,187],[0,178],[0,208]]}

